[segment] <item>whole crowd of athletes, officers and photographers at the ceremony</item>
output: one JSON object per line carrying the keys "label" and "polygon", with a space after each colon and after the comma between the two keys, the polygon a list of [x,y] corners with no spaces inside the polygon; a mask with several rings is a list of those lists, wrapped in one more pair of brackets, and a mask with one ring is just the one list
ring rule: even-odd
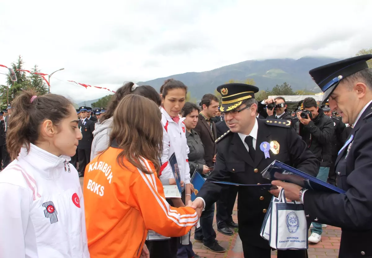
{"label": "whole crowd of athletes, officers and photographers at the ceremony", "polygon": [[[0,117],[0,257],[198,258],[194,226],[205,248],[226,251],[213,229],[216,212],[219,232],[238,228],[244,257],[267,258],[271,248],[259,233],[280,188],[303,202],[309,242],[334,225],[343,229],[340,258],[372,257],[371,58],[311,70],[324,101],[305,98],[293,111],[284,96],[257,101],[259,88],[240,83],[218,86],[221,103],[205,94],[199,106],[186,102],[187,86],[174,79],[160,92],[128,82],[107,108],[75,109],[61,95],[22,92]],[[176,185],[174,157],[181,198],[166,198],[163,186]],[[346,194],[270,182],[260,172],[274,160]],[[191,201],[194,173],[206,181]],[[278,250],[278,257],[307,251]]]}

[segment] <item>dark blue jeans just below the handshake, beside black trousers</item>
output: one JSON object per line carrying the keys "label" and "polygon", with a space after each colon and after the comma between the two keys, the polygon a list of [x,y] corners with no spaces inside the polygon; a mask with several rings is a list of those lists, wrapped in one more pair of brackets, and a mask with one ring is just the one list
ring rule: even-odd
{"label": "dark blue jeans just below the handshake, beside black trousers", "polygon": [[212,245],[216,239],[216,232],[213,229],[214,204],[205,209],[200,217],[200,227],[195,229],[194,238],[203,240],[204,245]]}

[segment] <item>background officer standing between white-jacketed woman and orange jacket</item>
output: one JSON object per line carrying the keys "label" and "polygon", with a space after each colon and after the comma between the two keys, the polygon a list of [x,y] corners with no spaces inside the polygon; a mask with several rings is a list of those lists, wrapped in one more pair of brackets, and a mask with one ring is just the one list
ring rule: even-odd
{"label": "background officer standing between white-jacketed woman and orange jacket", "polygon": [[90,151],[92,150],[94,122],[87,118],[87,107],[80,107],[81,120],[77,126],[80,129],[83,138],[79,140],[77,146],[79,159],[79,177],[84,176],[86,165],[90,162]]}

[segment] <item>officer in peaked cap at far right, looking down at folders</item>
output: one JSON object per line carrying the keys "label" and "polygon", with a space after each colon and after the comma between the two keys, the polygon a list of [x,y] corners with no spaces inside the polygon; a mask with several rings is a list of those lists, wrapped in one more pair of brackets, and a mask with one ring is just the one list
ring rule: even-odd
{"label": "officer in peaked cap at far right, looking down at folders", "polygon": [[372,54],[310,70],[310,75],[342,122],[353,125],[336,160],[337,186],[345,194],[282,186],[288,199],[302,200],[305,214],[319,223],[341,227],[339,258],[372,257]]}

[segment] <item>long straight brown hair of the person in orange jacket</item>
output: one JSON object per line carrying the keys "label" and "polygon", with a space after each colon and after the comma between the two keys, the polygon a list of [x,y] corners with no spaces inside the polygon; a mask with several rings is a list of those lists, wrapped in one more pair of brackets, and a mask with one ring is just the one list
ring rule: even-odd
{"label": "long straight brown hair of the person in orange jacket", "polygon": [[151,174],[141,164],[141,158],[145,158],[159,173],[163,128],[159,106],[154,101],[136,94],[126,95],[113,113],[111,126],[110,142],[116,141],[122,149],[117,158],[121,167],[126,167],[124,160],[128,160],[142,172]]}

